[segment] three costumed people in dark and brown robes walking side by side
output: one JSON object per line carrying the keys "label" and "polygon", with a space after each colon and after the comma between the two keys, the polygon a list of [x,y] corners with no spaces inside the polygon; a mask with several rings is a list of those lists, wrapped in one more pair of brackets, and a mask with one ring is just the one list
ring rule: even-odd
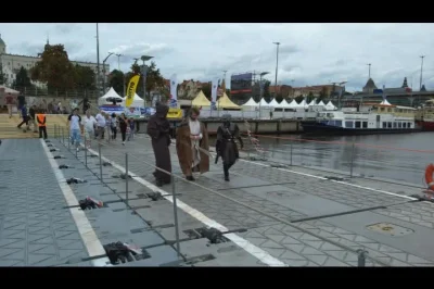
{"label": "three costumed people in dark and brown robes walking side by side", "polygon": [[[156,169],[153,173],[158,187],[171,183],[171,161],[169,146],[170,124],[167,120],[168,106],[157,103],[156,112],[148,122],[148,135],[151,137],[155,155]],[[204,174],[209,171],[209,142],[205,124],[199,121],[200,109],[192,108],[176,129],[176,151],[182,174],[187,180],[194,181],[194,174]],[[225,180],[229,181],[229,168],[239,159],[235,143],[243,141],[237,124],[230,121],[230,115],[217,130],[217,158],[222,159]]]}

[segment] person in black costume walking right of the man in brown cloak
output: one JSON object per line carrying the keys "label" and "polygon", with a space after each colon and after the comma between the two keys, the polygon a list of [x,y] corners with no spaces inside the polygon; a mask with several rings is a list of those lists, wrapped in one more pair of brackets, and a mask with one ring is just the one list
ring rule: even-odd
{"label": "person in black costume walking right of the man in brown cloak", "polygon": [[240,128],[235,123],[231,123],[231,116],[225,115],[225,122],[217,128],[216,151],[221,156],[224,163],[225,180],[229,181],[229,168],[240,158],[235,139],[243,148],[243,140],[240,137]]}

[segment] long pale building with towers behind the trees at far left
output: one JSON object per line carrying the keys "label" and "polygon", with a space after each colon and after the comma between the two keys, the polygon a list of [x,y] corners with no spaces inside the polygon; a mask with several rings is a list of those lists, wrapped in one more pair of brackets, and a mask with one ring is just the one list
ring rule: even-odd
{"label": "long pale building with towers behind the trees at far left", "polygon": [[[47,45],[49,45],[49,39],[47,39]],[[16,74],[18,73],[21,67],[26,68],[29,71],[31,67],[35,66],[37,62],[40,61],[40,58],[38,55],[20,55],[20,54],[13,54],[10,53],[7,49],[7,43],[1,37],[0,34],[0,68],[1,72],[4,75],[4,85],[8,87],[11,87],[13,81],[16,79]],[[93,62],[85,62],[85,61],[73,61],[71,60],[72,63],[78,64],[81,66],[90,67],[92,68],[95,74],[98,72],[98,64]],[[102,75],[102,72],[106,72],[106,74],[110,73],[110,65],[105,64],[103,70],[103,65],[100,64],[100,74]],[[107,75],[105,75],[107,77]],[[97,80],[97,79],[95,79]],[[33,81],[34,83],[34,81]],[[36,86],[42,87],[43,85],[40,83],[34,83]]]}

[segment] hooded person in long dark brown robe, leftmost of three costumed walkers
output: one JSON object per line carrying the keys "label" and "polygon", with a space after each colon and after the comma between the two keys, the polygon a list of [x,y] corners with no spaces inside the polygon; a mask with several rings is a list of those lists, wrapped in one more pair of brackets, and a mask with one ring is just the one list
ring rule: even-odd
{"label": "hooded person in long dark brown robe, leftmost of three costumed walkers", "polygon": [[[155,166],[171,173],[170,162],[170,124],[167,121],[169,108],[166,104],[157,103],[156,112],[148,121],[148,135],[152,139],[152,149],[155,155]],[[154,177],[158,187],[163,184],[170,184],[170,175],[155,169]]]}

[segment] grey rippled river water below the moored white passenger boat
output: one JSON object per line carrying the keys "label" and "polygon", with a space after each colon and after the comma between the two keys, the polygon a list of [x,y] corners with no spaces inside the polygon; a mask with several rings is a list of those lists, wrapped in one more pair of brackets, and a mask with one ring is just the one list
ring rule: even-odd
{"label": "grey rippled river water below the moored white passenger boat", "polygon": [[[292,141],[288,139],[307,138],[303,135],[258,138],[272,159],[290,162],[292,147],[292,162],[295,165],[321,166],[349,172],[353,159],[353,172],[355,174],[396,179],[420,186],[424,186],[426,165],[434,163],[434,133],[308,137],[310,140],[343,143]],[[362,144],[353,147],[353,142],[387,148],[369,148]],[[394,150],[392,148],[431,150],[433,152]]]}

